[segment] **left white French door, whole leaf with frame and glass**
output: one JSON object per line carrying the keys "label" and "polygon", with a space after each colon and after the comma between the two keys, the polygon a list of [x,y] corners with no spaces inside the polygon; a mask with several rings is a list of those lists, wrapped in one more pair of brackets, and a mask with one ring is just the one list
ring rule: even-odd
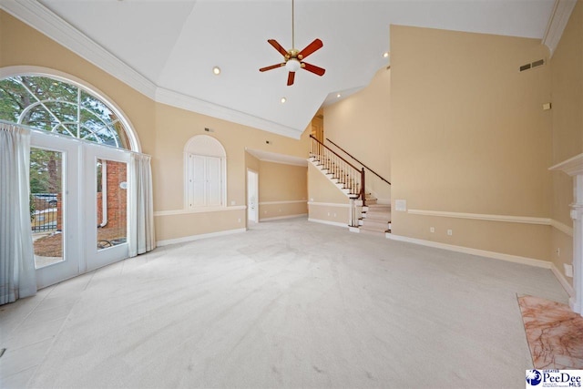
{"label": "left white French door, whole leaf with frame and glass", "polygon": [[30,208],[38,288],[79,273],[78,164],[75,140],[32,134]]}

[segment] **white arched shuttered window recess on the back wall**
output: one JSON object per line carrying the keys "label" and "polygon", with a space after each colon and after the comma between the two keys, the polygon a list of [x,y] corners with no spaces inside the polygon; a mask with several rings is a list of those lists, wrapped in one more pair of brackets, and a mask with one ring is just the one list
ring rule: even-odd
{"label": "white arched shuttered window recess on the back wall", "polygon": [[225,207],[227,155],[220,141],[208,135],[190,138],[184,147],[186,208]]}

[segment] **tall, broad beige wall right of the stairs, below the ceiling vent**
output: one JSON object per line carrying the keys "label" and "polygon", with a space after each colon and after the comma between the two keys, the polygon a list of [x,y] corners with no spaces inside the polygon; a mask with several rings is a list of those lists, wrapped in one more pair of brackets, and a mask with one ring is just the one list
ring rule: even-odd
{"label": "tall, broad beige wall right of the stairs, below the ceiling vent", "polygon": [[[548,218],[551,114],[542,105],[551,97],[550,70],[518,71],[547,58],[547,48],[537,39],[392,26],[391,52],[393,201]],[[394,210],[392,227],[396,235],[548,260],[548,226]]]}

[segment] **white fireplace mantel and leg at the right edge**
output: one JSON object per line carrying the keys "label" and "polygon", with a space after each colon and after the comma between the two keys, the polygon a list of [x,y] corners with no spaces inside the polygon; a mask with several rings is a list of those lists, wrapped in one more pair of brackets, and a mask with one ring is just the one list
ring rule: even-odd
{"label": "white fireplace mantel and leg at the right edge", "polygon": [[575,297],[569,300],[571,309],[583,315],[583,154],[567,159],[550,170],[564,171],[573,177],[573,289]]}

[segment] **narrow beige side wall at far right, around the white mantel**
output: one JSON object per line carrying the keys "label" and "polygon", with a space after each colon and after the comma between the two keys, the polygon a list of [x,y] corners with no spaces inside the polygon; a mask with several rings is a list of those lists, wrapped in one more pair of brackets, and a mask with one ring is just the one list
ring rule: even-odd
{"label": "narrow beige side wall at far right, around the white mantel", "polygon": [[[583,4],[579,1],[550,61],[552,75],[552,165],[583,152]],[[573,179],[553,172],[552,218],[572,227]],[[553,229],[550,255],[559,271],[573,260],[573,237]],[[569,282],[571,279],[568,279]]]}

